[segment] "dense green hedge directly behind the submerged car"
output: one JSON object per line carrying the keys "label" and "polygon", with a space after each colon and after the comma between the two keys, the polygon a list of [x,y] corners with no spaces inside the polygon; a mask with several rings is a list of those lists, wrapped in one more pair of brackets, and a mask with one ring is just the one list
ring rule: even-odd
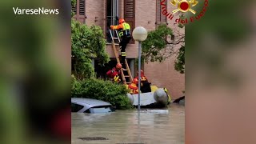
{"label": "dense green hedge directly behind the submerged car", "polygon": [[128,90],[124,85],[96,78],[78,80],[74,76],[71,83],[72,98],[94,98],[110,102],[121,110],[133,108],[130,100],[126,97]]}

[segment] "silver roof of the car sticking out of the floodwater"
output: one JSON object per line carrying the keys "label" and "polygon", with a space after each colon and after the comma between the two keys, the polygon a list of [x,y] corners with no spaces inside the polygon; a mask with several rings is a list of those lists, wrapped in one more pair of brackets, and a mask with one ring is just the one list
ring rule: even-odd
{"label": "silver roof of the car sticking out of the floodwater", "polygon": [[71,98],[71,102],[76,102],[81,105],[90,105],[90,106],[111,106],[109,102],[104,102],[104,101],[91,99],[91,98]]}

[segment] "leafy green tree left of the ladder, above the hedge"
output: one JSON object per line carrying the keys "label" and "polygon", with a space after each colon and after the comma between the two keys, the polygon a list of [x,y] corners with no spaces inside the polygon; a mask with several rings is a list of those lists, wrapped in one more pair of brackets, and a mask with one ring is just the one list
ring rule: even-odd
{"label": "leafy green tree left of the ladder, above the hedge", "polygon": [[78,78],[94,77],[91,58],[97,58],[100,65],[110,61],[106,53],[106,40],[101,27],[81,24],[71,20],[71,48],[74,73]]}

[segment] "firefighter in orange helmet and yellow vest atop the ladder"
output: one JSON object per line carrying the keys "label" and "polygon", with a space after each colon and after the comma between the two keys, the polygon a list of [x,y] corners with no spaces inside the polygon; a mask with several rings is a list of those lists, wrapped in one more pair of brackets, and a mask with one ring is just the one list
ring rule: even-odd
{"label": "firefighter in orange helmet and yellow vest atop the ladder", "polygon": [[125,60],[126,60],[126,46],[130,42],[131,33],[130,33],[130,25],[125,22],[124,19],[119,19],[118,26],[110,26],[112,30],[118,30],[119,38],[121,38],[121,42],[119,43],[121,49],[121,63],[122,67],[125,68]]}

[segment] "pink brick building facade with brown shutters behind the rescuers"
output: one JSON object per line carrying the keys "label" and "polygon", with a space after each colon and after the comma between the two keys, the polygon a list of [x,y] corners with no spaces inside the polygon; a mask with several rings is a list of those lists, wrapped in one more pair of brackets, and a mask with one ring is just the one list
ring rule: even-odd
{"label": "pink brick building facade with brown shutters behind the rescuers", "polygon": [[[106,50],[111,60],[113,60],[111,65],[113,66],[116,62],[114,62],[114,51],[110,44],[109,30],[110,25],[118,24],[118,18],[124,18],[130,24],[132,30],[136,26],[143,26],[148,31],[155,30],[161,23],[166,23],[172,29],[178,28],[178,23],[175,23],[175,19],[179,18],[178,14],[174,14],[172,20],[166,18],[161,12],[161,2],[166,4],[167,10],[177,8],[170,4],[170,0],[78,0],[77,6],[73,7],[73,11],[75,12],[74,18],[79,22],[85,23],[87,26],[97,25],[102,27],[107,41]],[[184,33],[184,31],[182,29],[181,32]],[[135,58],[138,58],[138,43],[134,40],[126,48],[126,58],[130,63],[130,70],[135,76],[137,67],[134,62]],[[174,59],[175,56],[161,63],[145,63],[142,67],[146,77],[153,85],[166,87],[175,99],[183,95],[185,75],[174,70]],[[94,66],[95,70],[98,70],[97,62],[94,62]]]}

